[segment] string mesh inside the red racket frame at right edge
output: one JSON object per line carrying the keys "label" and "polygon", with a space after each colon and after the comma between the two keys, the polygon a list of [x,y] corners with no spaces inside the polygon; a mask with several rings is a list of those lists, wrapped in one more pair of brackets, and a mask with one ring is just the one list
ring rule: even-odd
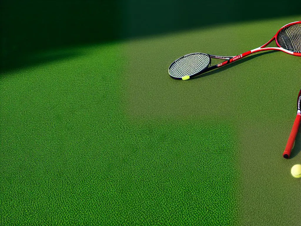
{"label": "string mesh inside the red racket frame at right edge", "polygon": [[301,24],[282,29],[277,36],[277,42],[283,49],[301,53]]}

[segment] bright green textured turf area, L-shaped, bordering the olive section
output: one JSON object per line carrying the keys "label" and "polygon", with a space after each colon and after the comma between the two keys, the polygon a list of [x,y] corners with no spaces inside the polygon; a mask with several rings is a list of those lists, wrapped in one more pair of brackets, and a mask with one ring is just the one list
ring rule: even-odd
{"label": "bright green textured turf area, L-shaped, bordering the olive section", "polygon": [[126,46],[1,75],[2,225],[234,223],[234,129],[129,118]]}

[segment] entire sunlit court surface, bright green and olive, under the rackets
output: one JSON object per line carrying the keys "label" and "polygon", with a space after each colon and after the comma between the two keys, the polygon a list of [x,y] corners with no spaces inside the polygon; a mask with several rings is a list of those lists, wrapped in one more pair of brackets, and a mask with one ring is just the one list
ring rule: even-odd
{"label": "entire sunlit court surface, bright green and olive, under the rackets", "polygon": [[2,72],[2,225],[299,225],[301,136],[291,159],[282,152],[301,58],[258,53],[187,81],[167,72],[187,53],[259,47],[296,20],[53,50]]}

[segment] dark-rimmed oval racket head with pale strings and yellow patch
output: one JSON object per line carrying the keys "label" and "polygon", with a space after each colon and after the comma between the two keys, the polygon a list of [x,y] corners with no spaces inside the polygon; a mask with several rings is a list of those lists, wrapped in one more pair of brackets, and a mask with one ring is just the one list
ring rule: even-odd
{"label": "dark-rimmed oval racket head with pale strings and yellow patch", "polygon": [[187,80],[208,68],[211,58],[206,53],[190,53],[172,62],[168,74],[174,79]]}

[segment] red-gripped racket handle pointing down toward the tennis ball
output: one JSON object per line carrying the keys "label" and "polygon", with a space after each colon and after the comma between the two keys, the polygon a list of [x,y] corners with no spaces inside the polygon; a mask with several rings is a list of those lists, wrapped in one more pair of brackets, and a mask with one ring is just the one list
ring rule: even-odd
{"label": "red-gripped racket handle pointing down toward the tennis ball", "polygon": [[287,140],[287,144],[285,147],[285,150],[283,152],[283,157],[285,159],[289,159],[290,158],[290,152],[292,151],[295,139],[296,139],[296,135],[298,133],[299,130],[299,124],[300,124],[300,120],[301,120],[301,111],[300,111],[300,101],[301,101],[301,89],[299,91],[298,94],[298,101],[297,101],[297,116],[292,128],[292,131],[290,132],[290,137]]}

